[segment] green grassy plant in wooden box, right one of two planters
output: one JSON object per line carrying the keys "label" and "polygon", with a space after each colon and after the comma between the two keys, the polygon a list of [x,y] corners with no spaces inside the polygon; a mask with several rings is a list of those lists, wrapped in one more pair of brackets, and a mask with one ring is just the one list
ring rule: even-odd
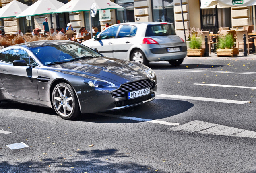
{"label": "green grassy plant in wooden box, right one of two planters", "polygon": [[237,56],[238,48],[234,48],[234,38],[231,34],[227,34],[225,37],[218,37],[217,42],[217,56]]}

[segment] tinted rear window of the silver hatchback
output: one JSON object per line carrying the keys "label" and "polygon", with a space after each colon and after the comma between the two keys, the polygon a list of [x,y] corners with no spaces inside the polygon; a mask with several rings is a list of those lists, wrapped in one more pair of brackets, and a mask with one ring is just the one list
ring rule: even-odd
{"label": "tinted rear window of the silver hatchback", "polygon": [[176,35],[173,24],[148,25],[145,36]]}

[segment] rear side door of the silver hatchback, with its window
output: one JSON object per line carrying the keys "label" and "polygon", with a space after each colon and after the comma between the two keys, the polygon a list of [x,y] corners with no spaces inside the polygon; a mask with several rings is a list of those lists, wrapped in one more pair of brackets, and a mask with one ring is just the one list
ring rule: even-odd
{"label": "rear side door of the silver hatchback, with its window", "polygon": [[136,26],[122,25],[118,35],[112,41],[113,57],[117,59],[126,59],[128,50],[136,42],[135,34],[137,31]]}

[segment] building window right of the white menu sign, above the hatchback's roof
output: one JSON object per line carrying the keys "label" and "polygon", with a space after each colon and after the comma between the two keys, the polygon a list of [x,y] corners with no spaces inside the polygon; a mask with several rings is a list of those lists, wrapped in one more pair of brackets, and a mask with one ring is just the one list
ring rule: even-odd
{"label": "building window right of the white menu sign, above the hatchback's roof", "polygon": [[116,20],[120,20],[121,22],[135,22],[134,0],[115,0],[115,3],[124,7],[124,9],[116,9]]}

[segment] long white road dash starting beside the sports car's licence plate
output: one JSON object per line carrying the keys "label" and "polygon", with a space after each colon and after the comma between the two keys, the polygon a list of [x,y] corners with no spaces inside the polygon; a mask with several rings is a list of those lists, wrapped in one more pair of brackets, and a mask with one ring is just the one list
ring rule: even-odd
{"label": "long white road dash starting beside the sports car's licence plate", "polygon": [[160,95],[157,95],[157,97],[189,99],[189,100],[199,100],[199,101],[212,101],[212,102],[234,103],[234,104],[245,104],[250,102],[250,101],[237,101],[237,100],[227,100],[227,99],[214,99],[214,98],[207,98],[207,97],[192,97],[192,96],[166,95],[166,94],[160,94]]}

